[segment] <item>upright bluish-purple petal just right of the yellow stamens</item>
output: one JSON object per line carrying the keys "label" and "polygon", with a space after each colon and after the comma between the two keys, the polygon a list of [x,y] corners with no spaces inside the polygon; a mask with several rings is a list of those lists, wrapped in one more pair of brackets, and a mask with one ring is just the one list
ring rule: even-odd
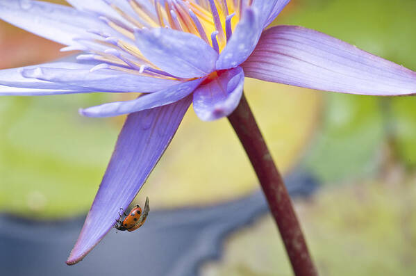
{"label": "upright bluish-purple petal just right of the yellow stamens", "polygon": [[258,11],[246,9],[226,47],[219,54],[216,70],[229,69],[243,63],[256,47],[262,31]]}

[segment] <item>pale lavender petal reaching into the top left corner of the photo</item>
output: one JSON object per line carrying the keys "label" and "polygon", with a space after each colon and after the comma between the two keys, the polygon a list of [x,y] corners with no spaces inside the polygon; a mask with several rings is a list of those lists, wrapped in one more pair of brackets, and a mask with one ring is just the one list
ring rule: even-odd
{"label": "pale lavender petal reaching into the top left corner of the photo", "polygon": [[43,1],[0,0],[0,19],[66,45],[77,44],[74,38],[91,37],[88,29],[109,29],[86,13]]}

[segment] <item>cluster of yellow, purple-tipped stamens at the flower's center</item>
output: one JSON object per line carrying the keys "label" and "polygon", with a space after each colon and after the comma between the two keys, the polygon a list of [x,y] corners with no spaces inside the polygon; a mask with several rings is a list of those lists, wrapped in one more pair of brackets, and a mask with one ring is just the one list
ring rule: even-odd
{"label": "cluster of yellow, purple-tipped stamens at the flower's center", "polygon": [[[126,0],[126,5],[117,6],[107,2],[116,12],[113,17],[99,18],[126,39],[110,37],[97,30],[92,33],[104,40],[94,40],[101,47],[82,42],[91,54],[78,59],[100,60],[103,63],[92,70],[103,68],[121,70],[160,78],[177,79],[163,72],[145,58],[135,46],[135,28],[169,28],[199,36],[220,53],[231,38],[235,26],[241,19],[242,10],[251,6],[253,0]],[[130,41],[130,42],[129,42]],[[107,49],[102,49],[102,46]],[[210,77],[208,77],[209,79]]]}

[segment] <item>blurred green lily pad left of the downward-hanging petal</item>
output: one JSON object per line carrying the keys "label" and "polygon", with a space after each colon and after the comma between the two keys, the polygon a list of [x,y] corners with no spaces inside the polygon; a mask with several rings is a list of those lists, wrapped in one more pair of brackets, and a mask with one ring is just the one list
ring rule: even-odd
{"label": "blurred green lily pad left of the downward-hanging petal", "polygon": [[76,113],[83,102],[97,104],[94,97],[1,99],[0,209],[31,217],[88,209],[118,128]]}

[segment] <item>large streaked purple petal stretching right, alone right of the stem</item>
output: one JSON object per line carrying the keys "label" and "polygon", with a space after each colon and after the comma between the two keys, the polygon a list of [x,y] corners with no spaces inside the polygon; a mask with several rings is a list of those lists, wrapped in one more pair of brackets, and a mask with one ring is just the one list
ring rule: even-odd
{"label": "large streaked purple petal stretching right, alone right of the stem", "polygon": [[299,26],[265,31],[242,67],[251,78],[317,90],[383,96],[416,93],[416,72]]}

